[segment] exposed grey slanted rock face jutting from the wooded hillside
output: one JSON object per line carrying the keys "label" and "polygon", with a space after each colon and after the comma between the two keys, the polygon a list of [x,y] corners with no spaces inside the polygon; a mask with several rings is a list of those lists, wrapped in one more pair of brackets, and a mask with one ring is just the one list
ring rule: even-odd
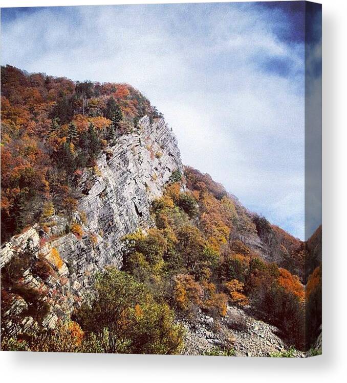
{"label": "exposed grey slanted rock face jutting from the wooded hillside", "polygon": [[[58,317],[80,305],[97,270],[107,265],[121,266],[120,238],[152,225],[151,201],[162,195],[175,170],[183,172],[176,137],[163,118],[151,124],[149,117],[144,116],[138,131],[119,137],[100,156],[93,174],[86,171],[82,175],[78,187],[83,197],[74,216],[82,235],[66,233],[67,220],[54,216],[49,219],[46,232],[35,224],[5,244],[2,268],[29,244],[33,258],[44,257],[55,269],[46,281],[34,277],[28,269],[23,281],[47,297],[50,314],[43,321],[46,327],[54,327]],[[11,307],[2,317],[2,327],[13,334],[34,330],[36,321],[19,315],[25,309],[23,299],[12,297]]]}

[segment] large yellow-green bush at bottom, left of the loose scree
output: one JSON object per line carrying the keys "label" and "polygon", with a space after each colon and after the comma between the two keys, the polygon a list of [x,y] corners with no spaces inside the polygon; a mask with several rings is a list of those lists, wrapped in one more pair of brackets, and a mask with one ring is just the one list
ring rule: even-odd
{"label": "large yellow-green bush at bottom, left of the loose scree", "polygon": [[[96,277],[98,299],[75,314],[94,333],[102,352],[176,353],[183,330],[166,304],[154,301],[146,286],[126,272],[108,268]],[[95,344],[95,342],[94,342]]]}

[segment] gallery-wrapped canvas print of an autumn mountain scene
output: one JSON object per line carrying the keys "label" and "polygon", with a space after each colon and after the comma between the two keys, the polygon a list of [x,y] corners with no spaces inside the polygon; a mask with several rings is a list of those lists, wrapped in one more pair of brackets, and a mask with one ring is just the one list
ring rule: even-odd
{"label": "gallery-wrapped canvas print of an autumn mountain scene", "polygon": [[321,5],[1,9],[1,349],[321,354]]}

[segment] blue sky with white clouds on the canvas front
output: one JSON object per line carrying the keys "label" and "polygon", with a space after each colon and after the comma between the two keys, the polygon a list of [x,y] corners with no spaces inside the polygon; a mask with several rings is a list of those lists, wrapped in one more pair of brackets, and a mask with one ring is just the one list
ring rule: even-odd
{"label": "blue sky with white clouds on the canvas front", "polygon": [[126,82],[182,161],[305,237],[303,2],[3,8],[2,65]]}

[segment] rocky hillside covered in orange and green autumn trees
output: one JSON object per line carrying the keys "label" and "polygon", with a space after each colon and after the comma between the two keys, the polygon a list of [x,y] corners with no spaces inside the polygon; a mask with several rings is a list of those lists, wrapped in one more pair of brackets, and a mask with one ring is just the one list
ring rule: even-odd
{"label": "rocky hillside covered in orange and green autumn trees", "polygon": [[308,301],[302,282],[318,240],[183,166],[139,91],[10,66],[1,81],[3,349],[269,355],[315,341],[318,261]]}

